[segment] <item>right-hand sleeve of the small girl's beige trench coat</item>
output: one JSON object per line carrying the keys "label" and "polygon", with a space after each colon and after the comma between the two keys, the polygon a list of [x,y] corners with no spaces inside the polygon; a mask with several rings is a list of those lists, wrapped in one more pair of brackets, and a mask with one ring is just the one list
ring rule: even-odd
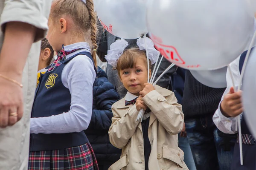
{"label": "right-hand sleeve of the small girl's beige trench coat", "polygon": [[184,114],[173,92],[165,98],[154,90],[143,97],[143,102],[150,108],[158,122],[163,125],[168,133],[171,135],[180,133],[183,129]]}

